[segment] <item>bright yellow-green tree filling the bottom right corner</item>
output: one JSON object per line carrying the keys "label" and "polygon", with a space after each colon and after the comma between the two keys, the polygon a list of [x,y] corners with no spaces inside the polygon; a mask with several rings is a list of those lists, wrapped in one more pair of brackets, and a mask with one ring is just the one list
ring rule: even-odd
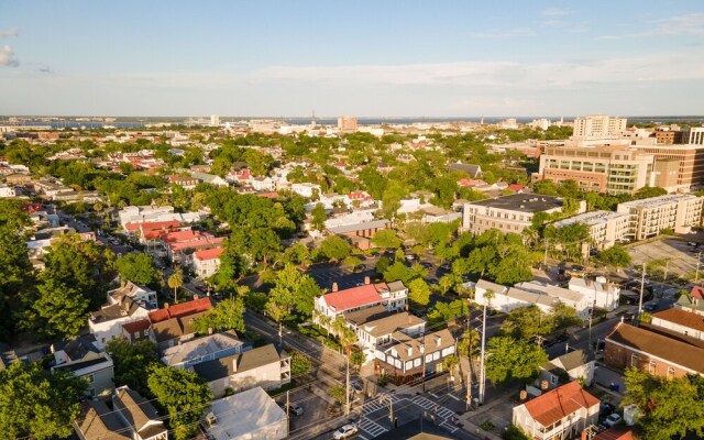
{"label": "bright yellow-green tree filling the bottom right corner", "polygon": [[644,439],[670,440],[704,436],[704,382],[697,376],[660,377],[637,369],[625,373],[622,405],[635,404]]}

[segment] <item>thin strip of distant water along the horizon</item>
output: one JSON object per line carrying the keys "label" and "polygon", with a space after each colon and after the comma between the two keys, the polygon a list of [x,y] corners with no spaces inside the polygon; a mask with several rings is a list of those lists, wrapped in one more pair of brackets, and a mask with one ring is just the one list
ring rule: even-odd
{"label": "thin strip of distant water along the horizon", "polygon": [[[496,123],[501,122],[507,118],[512,117],[485,117],[485,123]],[[535,119],[546,118],[551,121],[559,121],[560,117],[529,117],[529,118],[514,118],[518,123],[529,123]],[[652,116],[652,117],[625,117],[628,119],[629,123],[649,123],[649,122],[694,122],[704,124],[704,116]],[[280,120],[280,118],[229,118],[221,117],[221,121],[245,121],[249,119],[274,119]],[[565,122],[574,121],[574,117],[564,117]],[[447,122],[480,122],[482,118],[473,117],[473,118],[358,118],[358,123],[361,125],[380,125],[380,124],[411,124],[411,123],[447,123]],[[284,118],[284,121],[294,125],[306,125],[310,123],[310,118]],[[337,125],[337,118],[318,118],[316,122],[320,125]],[[82,121],[22,121],[20,125],[50,125],[53,129],[101,129],[103,127],[116,127],[118,129],[135,129],[140,127],[144,127],[146,124],[154,123],[165,123],[163,119],[161,120],[148,120],[144,119],[140,122],[82,122]],[[174,124],[183,124],[186,123],[186,120],[176,120],[174,119],[170,122]]]}

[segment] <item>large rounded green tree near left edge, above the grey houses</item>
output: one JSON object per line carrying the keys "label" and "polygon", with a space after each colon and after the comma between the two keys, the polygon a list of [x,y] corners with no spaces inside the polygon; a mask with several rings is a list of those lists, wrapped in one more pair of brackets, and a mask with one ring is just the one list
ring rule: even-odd
{"label": "large rounded green tree near left edge, above the grey houses", "polygon": [[82,292],[42,275],[37,298],[26,311],[26,326],[46,337],[70,338],[86,326],[90,301]]}

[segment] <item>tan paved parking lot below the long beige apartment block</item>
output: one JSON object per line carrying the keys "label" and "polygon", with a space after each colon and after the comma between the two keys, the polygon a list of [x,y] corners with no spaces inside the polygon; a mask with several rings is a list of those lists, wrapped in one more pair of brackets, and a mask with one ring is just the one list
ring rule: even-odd
{"label": "tan paved parking lot below the long beige apartment block", "polygon": [[[698,250],[704,252],[704,246]],[[652,261],[669,260],[669,274],[689,277],[696,271],[698,250],[689,245],[684,240],[666,239],[629,246],[628,252],[636,266],[646,263],[647,270],[647,264]]]}

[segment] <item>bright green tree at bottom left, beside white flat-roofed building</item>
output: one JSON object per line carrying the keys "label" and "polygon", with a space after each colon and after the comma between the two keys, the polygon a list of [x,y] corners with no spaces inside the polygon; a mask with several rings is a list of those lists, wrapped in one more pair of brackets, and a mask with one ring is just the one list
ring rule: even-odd
{"label": "bright green tree at bottom left, beside white flat-roofed building", "polygon": [[176,440],[190,439],[198,431],[198,420],[210,407],[208,383],[183,369],[155,364],[147,380],[162,414],[168,414],[168,426]]}

